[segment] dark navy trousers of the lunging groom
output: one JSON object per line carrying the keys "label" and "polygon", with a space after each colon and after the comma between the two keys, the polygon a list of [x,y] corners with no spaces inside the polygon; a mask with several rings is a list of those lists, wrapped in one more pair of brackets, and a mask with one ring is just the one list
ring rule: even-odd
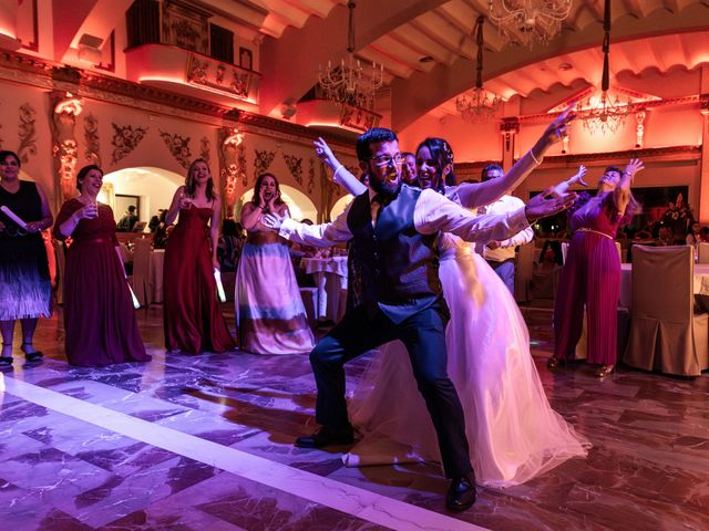
{"label": "dark navy trousers of the lunging groom", "polygon": [[331,427],[349,424],[343,364],[383,343],[401,340],[439,437],[446,477],[462,477],[472,471],[463,408],[448,376],[446,310],[436,302],[398,324],[372,304],[348,311],[310,353],[318,385],[318,424]]}

